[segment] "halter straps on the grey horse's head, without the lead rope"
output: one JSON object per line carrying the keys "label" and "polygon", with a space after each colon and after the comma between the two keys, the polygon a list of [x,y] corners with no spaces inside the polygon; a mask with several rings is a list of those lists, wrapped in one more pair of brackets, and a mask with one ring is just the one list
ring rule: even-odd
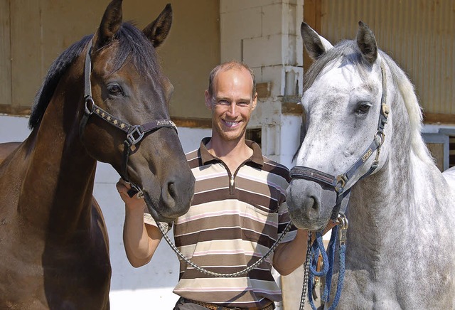
{"label": "halter straps on the grey horse's head, without the lead rope", "polygon": [[361,176],[358,181],[360,181],[362,178],[365,178],[366,176],[369,176],[375,169],[378,167],[379,163],[379,154],[380,154],[380,148],[382,144],[384,143],[385,139],[385,133],[384,133],[384,127],[385,124],[387,123],[387,117],[389,116],[389,107],[387,106],[387,75],[385,74],[385,68],[384,65],[381,63],[381,74],[382,74],[382,97],[381,97],[381,109],[380,109],[380,114],[379,114],[379,122],[378,122],[378,130],[375,133],[375,137],[373,138],[373,142],[368,146],[366,151],[363,152],[362,156],[360,156],[360,159],[355,161],[355,164],[353,166],[350,166],[348,171],[346,173],[340,174],[338,176],[332,176],[331,174],[324,173],[322,171],[312,169],[310,167],[306,166],[294,166],[291,171],[290,171],[290,178],[296,179],[304,179],[304,180],[309,180],[309,181],[314,181],[318,183],[325,183],[329,187],[331,187],[334,191],[337,193],[337,200],[336,200],[336,205],[333,207],[332,211],[332,220],[336,220],[338,217],[338,213],[340,212],[341,208],[341,201],[343,201],[343,198],[348,196],[350,192],[350,188],[354,185],[354,183],[349,184],[348,188],[346,188],[346,184],[350,180],[350,178],[354,175],[355,171],[357,171],[360,166],[363,166],[365,161],[367,161],[370,156],[373,154],[374,151],[376,151],[376,156],[375,160],[373,161],[373,164],[371,165],[370,169],[363,175]]}

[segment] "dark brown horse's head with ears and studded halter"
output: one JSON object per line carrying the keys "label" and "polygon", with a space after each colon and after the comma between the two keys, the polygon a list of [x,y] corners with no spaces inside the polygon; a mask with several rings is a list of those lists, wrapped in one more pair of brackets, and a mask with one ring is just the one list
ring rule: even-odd
{"label": "dark brown horse's head with ears and studded halter", "polygon": [[155,21],[139,31],[122,23],[122,1],[113,0],[91,47],[87,44],[82,53],[82,144],[90,156],[112,164],[141,191],[151,215],[161,221],[186,213],[194,186],[168,113],[173,85],[162,73],[155,51],[168,35],[171,22],[168,4]]}

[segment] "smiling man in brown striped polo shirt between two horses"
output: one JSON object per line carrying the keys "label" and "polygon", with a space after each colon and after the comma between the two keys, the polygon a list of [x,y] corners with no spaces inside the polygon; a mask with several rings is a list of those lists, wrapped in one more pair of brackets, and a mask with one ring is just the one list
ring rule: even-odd
{"label": "smiling man in brown striped polo shirt between two horses", "polygon": [[[190,210],[174,223],[179,250],[212,272],[232,273],[253,264],[278,239],[289,223],[286,188],[289,171],[262,156],[257,144],[245,140],[247,124],[257,105],[255,77],[247,65],[232,61],[210,73],[205,105],[212,112],[212,137],[187,154],[196,178]],[[129,186],[117,188],[125,201],[124,246],[135,267],[154,255],[161,232],[144,201],[129,198]],[[145,224],[144,224],[145,218]],[[174,293],[175,309],[274,309],[282,299],[272,277],[272,264],[289,274],[303,264],[307,232],[288,232],[268,259],[248,274],[211,277],[181,260]]]}

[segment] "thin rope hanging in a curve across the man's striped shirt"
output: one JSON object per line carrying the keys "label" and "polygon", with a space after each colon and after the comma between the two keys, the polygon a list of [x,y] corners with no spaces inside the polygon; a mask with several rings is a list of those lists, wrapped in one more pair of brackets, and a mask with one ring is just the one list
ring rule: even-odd
{"label": "thin rope hanging in a curve across the man's striped shirt", "polygon": [[[156,222],[156,225],[158,225],[158,228],[159,230],[161,231],[161,234],[163,235],[164,237],[164,240],[166,240],[166,242],[168,242],[168,245],[171,247],[171,249],[173,250],[173,252],[176,252],[176,255],[178,255],[178,257],[180,257],[182,260],[184,260],[186,263],[188,264],[191,264],[191,266],[193,266],[196,270],[198,270],[198,272],[202,272],[204,274],[208,274],[210,276],[213,276],[213,277],[225,277],[225,278],[232,278],[232,277],[237,277],[239,276],[240,274],[246,274],[248,272],[250,272],[252,269],[255,269],[257,266],[259,266],[259,264],[262,264],[262,262],[264,262],[264,260],[269,257],[269,255],[278,247],[279,245],[279,242],[281,242],[284,238],[284,235],[287,234],[287,232],[289,232],[289,230],[291,229],[291,226],[292,226],[292,222],[289,222],[286,226],[286,228],[284,228],[284,231],[282,232],[282,235],[279,236],[278,240],[275,241],[274,245],[272,245],[272,247],[270,247],[269,251],[267,253],[265,253],[265,255],[263,257],[261,257],[259,260],[257,260],[257,262],[255,262],[254,264],[252,264],[251,266],[249,267],[246,267],[245,269],[243,270],[240,270],[238,272],[232,272],[232,273],[228,273],[228,274],[222,274],[222,273],[218,273],[218,272],[211,272],[210,270],[207,270],[203,267],[200,267],[198,266],[197,264],[191,262],[190,259],[188,259],[188,257],[186,257],[185,255],[183,255],[182,252],[180,252],[178,250],[178,248],[176,247],[176,245],[171,241],[171,239],[169,239],[168,237],[168,234],[167,232],[165,231],[165,229],[163,228],[163,226],[161,225],[161,223],[159,223],[157,220],[155,220]],[[307,254],[308,255],[308,254]]]}

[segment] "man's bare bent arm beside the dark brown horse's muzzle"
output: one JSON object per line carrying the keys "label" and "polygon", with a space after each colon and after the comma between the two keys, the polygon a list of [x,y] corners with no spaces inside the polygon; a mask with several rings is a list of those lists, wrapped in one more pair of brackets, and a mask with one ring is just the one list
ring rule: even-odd
{"label": "man's bare bent arm beside the dark brown horse's muzzle", "polygon": [[129,188],[122,179],[117,183],[117,191],[125,203],[123,242],[130,264],[141,267],[150,262],[162,235],[158,228],[144,223],[145,201],[129,198]]}

